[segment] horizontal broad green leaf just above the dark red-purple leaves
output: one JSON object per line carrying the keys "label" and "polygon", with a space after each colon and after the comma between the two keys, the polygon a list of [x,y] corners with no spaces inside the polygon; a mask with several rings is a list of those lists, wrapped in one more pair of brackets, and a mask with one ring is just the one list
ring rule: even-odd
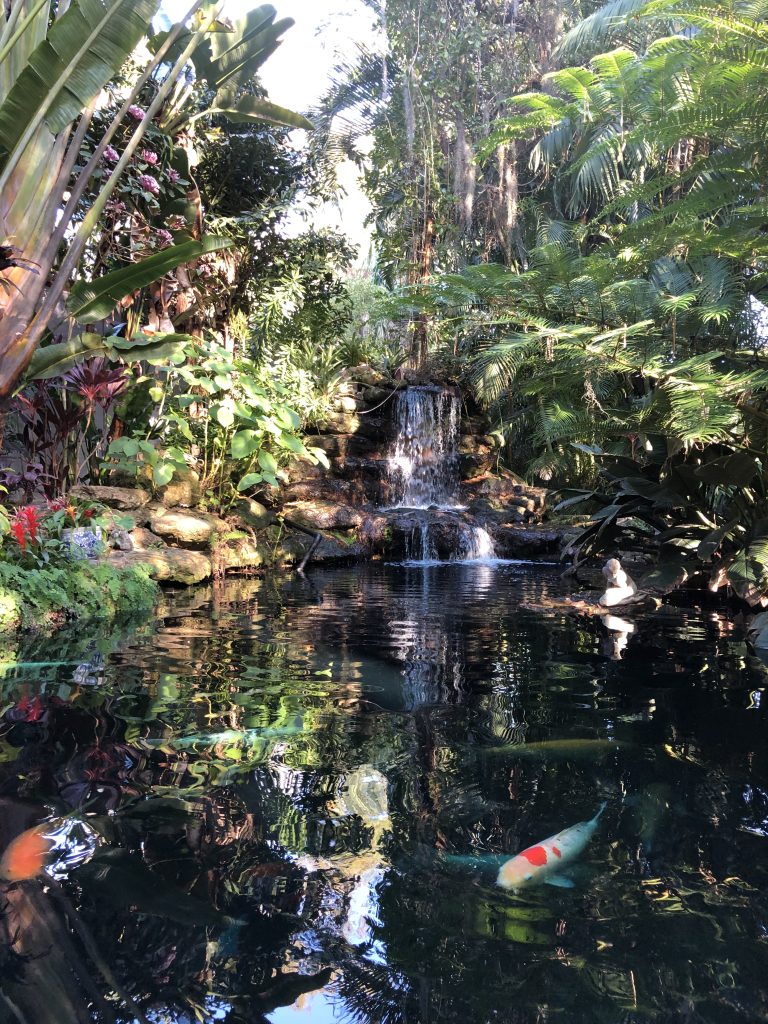
{"label": "horizontal broad green leaf just above the dark red-purple leaves", "polygon": [[60,377],[79,362],[96,355],[126,361],[170,358],[183,345],[194,341],[194,338],[185,334],[159,334],[152,338],[141,336],[132,341],[126,338],[105,338],[100,334],[81,334],[69,341],[39,348],[27,369],[25,383]]}

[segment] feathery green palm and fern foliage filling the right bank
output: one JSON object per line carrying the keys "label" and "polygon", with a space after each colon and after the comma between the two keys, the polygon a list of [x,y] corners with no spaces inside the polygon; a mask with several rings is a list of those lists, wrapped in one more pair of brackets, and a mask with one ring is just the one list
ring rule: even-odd
{"label": "feathery green palm and fern foliage filling the right bank", "polygon": [[[630,9],[632,24],[616,19]],[[453,339],[513,465],[589,485],[598,509],[580,557],[650,547],[662,589],[706,571],[761,601],[763,15],[613,2],[562,52],[596,55],[513,97],[479,146],[480,163],[500,146],[527,153],[520,258],[402,302]],[[565,494],[561,510],[585,500]]]}

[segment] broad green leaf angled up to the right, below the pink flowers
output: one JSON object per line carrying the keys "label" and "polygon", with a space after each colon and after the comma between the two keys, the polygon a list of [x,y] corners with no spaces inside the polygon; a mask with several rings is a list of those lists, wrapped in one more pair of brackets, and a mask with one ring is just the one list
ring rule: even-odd
{"label": "broad green leaf angled up to the right, below the pink flowers", "polygon": [[129,263],[128,266],[105,273],[95,281],[78,282],[70,293],[67,309],[81,324],[103,319],[126,295],[159,281],[182,263],[190,263],[206,253],[227,249],[229,246],[229,239],[214,234],[207,236],[200,242],[181,242],[179,245],[169,246],[147,256],[140,263]]}

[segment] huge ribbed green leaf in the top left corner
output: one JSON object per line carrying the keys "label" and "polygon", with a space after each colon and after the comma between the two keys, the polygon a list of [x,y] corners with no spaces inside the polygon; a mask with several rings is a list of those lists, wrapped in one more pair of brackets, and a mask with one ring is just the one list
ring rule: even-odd
{"label": "huge ribbed green leaf in the top left corner", "polygon": [[73,0],[0,104],[0,150],[45,123],[53,134],[98,95],[145,34],[159,0]]}

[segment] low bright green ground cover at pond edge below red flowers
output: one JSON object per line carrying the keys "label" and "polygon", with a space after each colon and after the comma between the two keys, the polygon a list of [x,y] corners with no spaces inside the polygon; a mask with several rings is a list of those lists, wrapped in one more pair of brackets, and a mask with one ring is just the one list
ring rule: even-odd
{"label": "low bright green ground cover at pond edge below red flowers", "polygon": [[158,586],[143,565],[116,568],[82,561],[29,569],[0,562],[0,632],[70,618],[118,618],[148,611],[157,596]]}

